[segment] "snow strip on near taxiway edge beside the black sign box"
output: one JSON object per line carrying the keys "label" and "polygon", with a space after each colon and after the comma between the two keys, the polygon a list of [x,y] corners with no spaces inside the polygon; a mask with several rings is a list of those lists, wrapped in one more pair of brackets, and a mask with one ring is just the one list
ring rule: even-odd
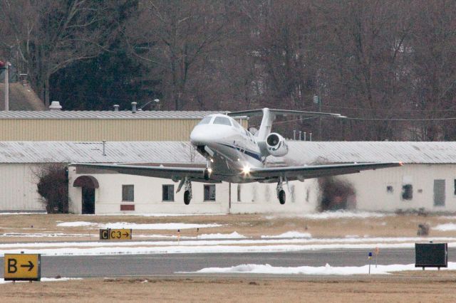
{"label": "snow strip on near taxiway edge beside the black sign box", "polygon": [[[414,264],[408,265],[371,265],[371,275],[387,275],[389,272],[403,270],[422,270]],[[427,269],[437,270],[437,268]],[[442,270],[456,270],[456,262],[448,262],[448,267]],[[197,273],[247,273],[247,274],[271,274],[271,275],[366,275],[369,272],[369,265],[363,266],[299,266],[299,267],[274,267],[269,264],[243,264],[233,267],[208,267],[198,270]]]}

